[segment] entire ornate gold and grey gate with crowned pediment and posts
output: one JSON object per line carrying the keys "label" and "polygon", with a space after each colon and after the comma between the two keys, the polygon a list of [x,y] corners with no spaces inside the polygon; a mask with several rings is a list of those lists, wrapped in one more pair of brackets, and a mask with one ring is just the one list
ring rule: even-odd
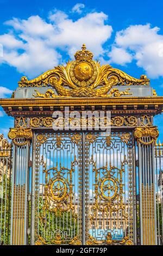
{"label": "entire ornate gold and grey gate with crowned pediment and posts", "polygon": [[[101,66],[85,45],[74,57],[34,80],[23,76],[11,99],[0,100],[15,118],[8,241],[161,244],[162,146],[153,117],[163,98],[147,76]],[[111,130],[96,129],[108,112]]]}

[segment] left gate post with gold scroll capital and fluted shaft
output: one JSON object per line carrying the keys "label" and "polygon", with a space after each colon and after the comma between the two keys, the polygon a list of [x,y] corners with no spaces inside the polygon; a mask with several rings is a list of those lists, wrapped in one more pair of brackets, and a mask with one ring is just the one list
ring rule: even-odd
{"label": "left gate post with gold scroll capital and fluted shaft", "polygon": [[8,134],[13,142],[12,192],[11,192],[11,236],[10,245],[27,243],[27,193],[30,128],[13,128]]}

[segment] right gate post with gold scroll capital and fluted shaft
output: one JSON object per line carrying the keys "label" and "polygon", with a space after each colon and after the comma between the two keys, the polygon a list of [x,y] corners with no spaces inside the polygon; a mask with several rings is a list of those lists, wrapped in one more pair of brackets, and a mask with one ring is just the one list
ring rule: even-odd
{"label": "right gate post with gold scroll capital and fluted shaft", "polygon": [[156,126],[136,127],[139,157],[141,245],[156,245],[154,145],[159,136]]}

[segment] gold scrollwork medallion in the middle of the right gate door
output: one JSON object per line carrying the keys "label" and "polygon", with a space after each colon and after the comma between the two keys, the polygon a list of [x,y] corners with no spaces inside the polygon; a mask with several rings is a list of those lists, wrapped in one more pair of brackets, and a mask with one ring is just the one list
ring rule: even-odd
{"label": "gold scrollwork medallion in the middle of the right gate door", "polygon": [[[97,168],[96,162],[93,161],[93,157],[90,161],[90,164],[93,166],[93,172],[95,172],[95,205],[92,207],[92,214],[90,219],[96,216],[97,211],[103,212],[106,215],[109,215],[109,212],[122,210],[124,217],[127,215],[124,213],[124,204],[123,204],[123,183],[122,175],[124,173],[124,166],[127,164],[126,156],[124,155],[124,160],[121,162],[121,168],[111,166],[108,169],[108,163],[106,166]],[[102,176],[101,176],[102,171]],[[117,175],[115,176],[115,171]],[[99,199],[102,200],[100,205]],[[115,201],[118,202],[118,208],[115,206]]]}

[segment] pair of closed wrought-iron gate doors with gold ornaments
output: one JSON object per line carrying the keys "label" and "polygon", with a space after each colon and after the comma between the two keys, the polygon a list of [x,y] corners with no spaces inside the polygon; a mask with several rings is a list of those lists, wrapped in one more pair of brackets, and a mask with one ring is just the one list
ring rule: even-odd
{"label": "pair of closed wrought-iron gate doors with gold ornaments", "polygon": [[32,243],[135,243],[130,132],[35,133]]}

